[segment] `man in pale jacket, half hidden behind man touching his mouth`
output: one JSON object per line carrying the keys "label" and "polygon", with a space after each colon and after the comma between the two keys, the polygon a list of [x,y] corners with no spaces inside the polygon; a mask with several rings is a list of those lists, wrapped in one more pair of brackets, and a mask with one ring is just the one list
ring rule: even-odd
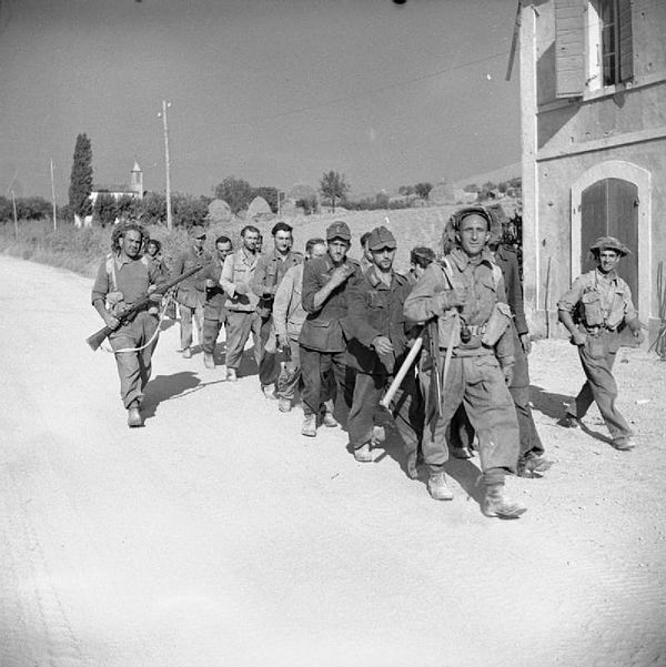
{"label": "man in pale jacket, half hidden behind man touching his mouth", "polygon": [[[326,242],[323,239],[310,239],[305,243],[305,262],[326,254]],[[301,355],[299,335],[305,311],[301,303],[303,292],[303,266],[292,266],[282,279],[273,303],[273,321],[280,347],[287,352],[289,361],[284,363],[278,378],[278,410],[290,412],[301,380]],[[327,412],[333,412],[332,403]]]}

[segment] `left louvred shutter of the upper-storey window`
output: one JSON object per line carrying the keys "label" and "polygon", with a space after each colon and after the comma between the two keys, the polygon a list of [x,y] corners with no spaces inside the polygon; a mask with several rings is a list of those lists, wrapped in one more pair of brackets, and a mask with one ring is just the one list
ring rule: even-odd
{"label": "left louvred shutter of the upper-storey window", "polygon": [[558,98],[585,90],[583,0],[555,0],[555,75]]}

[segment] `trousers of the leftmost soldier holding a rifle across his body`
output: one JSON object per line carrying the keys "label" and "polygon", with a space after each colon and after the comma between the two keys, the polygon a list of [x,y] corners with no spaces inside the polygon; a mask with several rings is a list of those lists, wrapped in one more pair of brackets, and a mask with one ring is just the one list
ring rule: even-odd
{"label": "trousers of the leftmost soldier holding a rifle across his body", "polygon": [[[120,396],[125,407],[143,401],[143,390],[150,380],[152,354],[158,338],[143,347],[154,335],[158,319],[143,311],[129,323],[109,335],[109,343],[115,352],[115,364],[120,377]],[[135,347],[143,350],[134,351]],[[127,352],[123,352],[127,350]]]}

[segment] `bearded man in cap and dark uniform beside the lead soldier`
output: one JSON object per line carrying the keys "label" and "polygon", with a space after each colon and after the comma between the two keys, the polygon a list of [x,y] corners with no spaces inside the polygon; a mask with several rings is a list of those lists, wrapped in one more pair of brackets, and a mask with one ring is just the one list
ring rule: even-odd
{"label": "bearded man in cap and dark uniform beside the lead soldier", "polygon": [[[350,444],[354,458],[372,461],[374,416],[384,391],[408,352],[408,329],[403,314],[412,285],[406,276],[393,271],[397,244],[385,228],[375,228],[367,247],[373,265],[354,283],[347,294],[349,316],[345,331],[351,363],[356,368],[354,397],[349,418]],[[392,414],[401,434],[415,477],[416,452],[423,437],[423,403],[412,368],[392,402]]]}

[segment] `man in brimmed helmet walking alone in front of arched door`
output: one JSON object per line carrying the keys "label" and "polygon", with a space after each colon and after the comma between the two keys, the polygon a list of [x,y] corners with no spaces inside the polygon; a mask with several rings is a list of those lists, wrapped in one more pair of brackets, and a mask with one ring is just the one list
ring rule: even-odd
{"label": "man in brimmed helmet walking alone in front of arched door", "polygon": [[557,303],[559,321],[578,347],[587,381],[568,406],[562,425],[577,427],[595,401],[616,449],[634,447],[632,429],[615,406],[617,385],[613,364],[619,348],[619,332],[628,326],[637,344],[643,342],[640,321],[627,283],[617,275],[620,257],[629,249],[613,236],[597,239],[589,249],[597,267],[578,276]]}

